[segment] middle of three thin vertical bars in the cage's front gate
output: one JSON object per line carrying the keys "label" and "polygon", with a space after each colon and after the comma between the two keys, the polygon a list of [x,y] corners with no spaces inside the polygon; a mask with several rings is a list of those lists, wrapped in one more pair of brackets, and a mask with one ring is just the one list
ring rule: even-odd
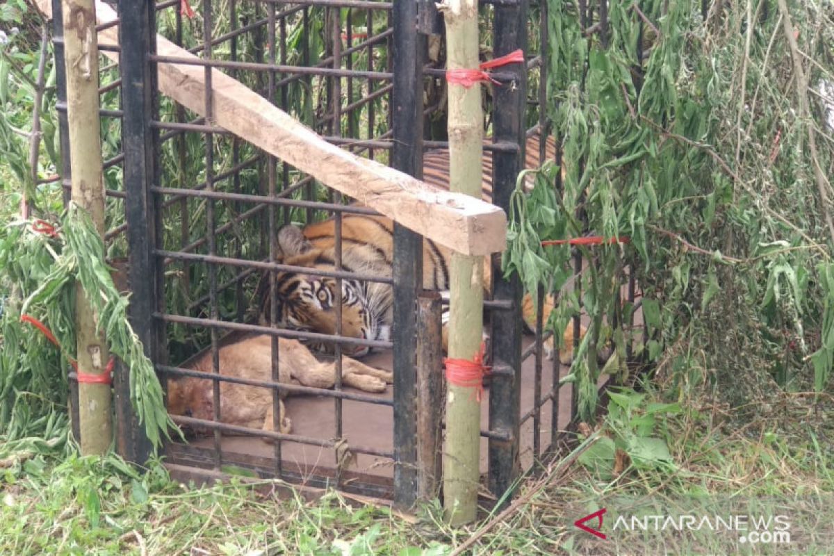
{"label": "middle of three thin vertical bars in the cage's front gate", "polygon": [[[269,43],[269,63],[275,63],[277,50],[275,48],[275,4],[270,3],[268,11],[268,22],[267,22],[267,33],[269,36],[267,37],[267,41]],[[270,103],[275,102],[275,73],[273,71],[269,71],[269,78],[267,81],[267,98],[269,98]],[[269,187],[269,197],[275,197],[278,195],[277,187],[276,187],[276,175],[275,175],[275,163],[276,158],[273,156],[267,157],[267,181]],[[278,253],[279,253],[279,245],[278,245],[278,227],[277,227],[277,220],[278,220],[278,207],[273,205],[269,205],[269,222],[268,222],[268,234],[269,234],[269,262],[274,263],[278,260]],[[278,314],[278,273],[270,272],[269,273],[269,325],[273,328],[278,328],[278,323],[280,322],[279,314]],[[280,367],[279,367],[279,339],[277,336],[273,336],[271,338],[270,348],[272,348],[272,379],[274,382],[279,382],[280,380]],[[280,399],[280,390],[274,389],[272,394],[272,419],[273,419],[273,428],[274,430],[280,430],[281,428],[281,399]],[[276,440],[273,444],[273,456],[275,458],[275,474],[280,478],[283,474],[284,469],[284,462],[283,456],[281,454],[281,441]]]}

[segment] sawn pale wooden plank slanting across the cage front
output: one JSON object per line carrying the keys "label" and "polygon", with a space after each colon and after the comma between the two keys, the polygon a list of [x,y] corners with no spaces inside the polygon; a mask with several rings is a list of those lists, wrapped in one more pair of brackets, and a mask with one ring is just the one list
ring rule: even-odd
{"label": "sawn pale wooden plank slanting across the cage front", "polygon": [[[36,1],[38,8],[51,16],[50,1]],[[116,18],[113,8],[101,0],[96,2],[96,15],[98,23]],[[104,29],[98,33],[98,42],[117,44],[118,30]],[[157,36],[157,53],[198,60],[160,36]],[[118,53],[103,54],[118,62]],[[162,93],[194,113],[204,115],[203,67],[158,63],[158,83]],[[327,143],[288,113],[218,69],[212,70],[211,83],[212,124],[457,253],[488,255],[504,250],[506,215],[500,208],[477,198],[450,193]]]}

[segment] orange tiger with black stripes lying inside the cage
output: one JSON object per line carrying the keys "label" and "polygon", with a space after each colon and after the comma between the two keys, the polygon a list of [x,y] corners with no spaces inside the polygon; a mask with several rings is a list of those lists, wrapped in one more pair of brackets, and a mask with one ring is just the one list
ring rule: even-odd
{"label": "orange tiger with black stripes lying inside the cage", "polygon": [[[548,138],[545,156],[555,158],[555,142]],[[532,136],[526,144],[526,168],[539,168],[539,138]],[[492,157],[483,156],[483,198],[492,199]],[[449,187],[449,152],[447,150],[426,153],[424,157],[424,181],[440,188]],[[342,257],[344,271],[380,278],[390,278],[394,253],[394,225],[390,218],[344,214],[342,216]],[[296,267],[309,267],[333,271],[335,264],[334,218],[312,223],[303,229],[292,224],[284,226],[278,233],[281,263]],[[423,287],[432,290],[450,288],[449,268],[451,251],[428,238],[423,241]],[[488,265],[485,273],[487,288],[490,275]],[[394,320],[393,288],[389,284],[342,279],[342,335],[349,338],[389,340]],[[263,300],[259,314],[260,322],[269,321],[268,280],[261,281],[258,298]],[[336,280],[322,278],[303,272],[277,273],[278,315],[277,321],[288,328],[316,333],[336,333],[336,312],[334,303]],[[553,308],[552,298],[545,299],[544,321]],[[535,303],[525,294],[522,303],[525,323],[535,327]],[[444,314],[443,343],[448,348],[448,333]],[[585,334],[585,328],[580,329]],[[565,349],[560,353],[563,363],[570,363],[573,357],[573,326],[565,328]],[[308,343],[319,351],[332,352],[330,343]],[[552,358],[552,338],[545,343],[545,353]],[[352,357],[361,357],[369,352],[367,347],[344,346],[342,352]]]}

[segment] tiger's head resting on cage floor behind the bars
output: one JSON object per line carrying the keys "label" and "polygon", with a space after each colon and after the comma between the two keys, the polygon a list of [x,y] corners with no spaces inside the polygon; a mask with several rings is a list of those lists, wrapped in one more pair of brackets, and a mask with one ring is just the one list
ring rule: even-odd
{"label": "tiger's head resting on cage floor behind the bars", "polygon": [[[278,234],[281,249],[281,263],[296,267],[335,270],[333,248],[318,248],[304,237],[300,228],[287,225]],[[343,249],[343,261],[349,248]],[[343,265],[343,268],[347,265]],[[345,268],[346,270],[348,268]],[[348,338],[388,339],[384,327],[380,326],[379,315],[369,304],[366,284],[359,280],[342,279],[342,330]],[[286,328],[307,332],[336,333],[336,303],[339,295],[336,279],[314,276],[302,272],[279,272],[277,275],[278,323]],[[269,322],[269,281],[263,290],[261,299],[264,310],[261,322]],[[334,352],[331,342],[303,340],[315,351]],[[361,357],[368,353],[367,346],[342,344],[342,353],[351,357]]]}

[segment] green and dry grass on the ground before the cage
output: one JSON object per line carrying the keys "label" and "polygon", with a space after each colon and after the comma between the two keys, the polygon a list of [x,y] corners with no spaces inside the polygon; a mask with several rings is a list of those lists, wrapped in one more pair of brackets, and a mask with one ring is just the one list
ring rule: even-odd
{"label": "green and dry grass on the ground before the cage", "polygon": [[[630,415],[641,417],[664,401],[649,393]],[[695,513],[705,501],[751,514],[787,512],[796,551],[777,547],[777,553],[828,553],[834,515],[826,493],[834,493],[834,467],[827,438],[834,431],[827,415],[834,404],[828,398],[815,409],[806,398],[783,395],[773,405],[773,418],[734,428],[736,410],[686,400],[651,430],[666,443],[670,461],[626,458],[606,473],[585,457],[589,450],[548,480],[529,478],[518,493],[525,502],[509,515],[457,529],[442,522],[436,504],[410,518],[389,508],[357,508],[333,491],[312,502],[279,498],[268,481],[256,483],[261,488],[239,478],[187,486],[158,464],[143,473],[113,456],[12,459],[0,470],[0,553],[411,556],[453,553],[473,534],[478,538],[465,554],[653,554],[659,542],[668,553],[746,553],[736,538],[720,534],[611,534],[613,521],[606,519],[609,538],[601,541],[573,525],[596,508],[610,515],[647,506]],[[605,419],[604,436],[623,436],[624,421],[616,418],[614,412]],[[767,549],[776,548],[750,553]]]}

